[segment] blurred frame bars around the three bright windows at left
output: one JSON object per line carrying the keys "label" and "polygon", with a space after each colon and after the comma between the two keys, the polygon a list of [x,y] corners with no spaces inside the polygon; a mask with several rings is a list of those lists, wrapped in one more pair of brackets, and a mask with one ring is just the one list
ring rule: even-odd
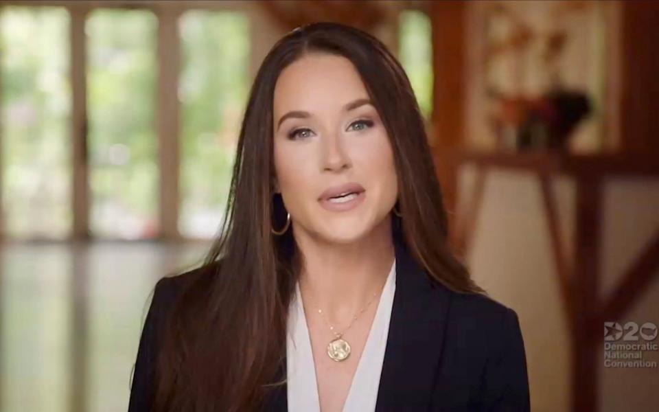
{"label": "blurred frame bars around the three bright windows at left", "polygon": [[[180,211],[180,165],[181,153],[179,139],[181,135],[181,103],[170,98],[177,95],[178,77],[181,68],[181,39],[178,23],[181,16],[189,10],[207,10],[224,12],[243,12],[251,19],[254,6],[240,1],[153,1],[153,0],[92,0],[77,1],[25,1],[10,0],[0,5],[5,7],[60,7],[69,13],[69,79],[71,82],[71,119],[69,133],[71,138],[71,198],[73,222],[69,236],[59,240],[40,237],[9,238],[3,230],[5,215],[0,209],[0,239],[5,242],[71,242],[85,240],[102,240],[110,242],[150,242],[198,241],[207,239],[183,237],[178,231]],[[158,21],[156,73],[154,95],[154,135],[157,136],[157,164],[159,169],[158,198],[158,235],[153,239],[128,240],[121,238],[95,238],[89,227],[91,207],[91,190],[89,187],[88,135],[89,118],[87,113],[86,90],[86,36],[84,25],[87,17],[97,9],[148,10]],[[255,43],[255,30],[250,31],[250,43]],[[252,50],[255,48],[252,47]],[[253,73],[255,56],[250,56],[250,69]],[[2,93],[0,89],[0,93]],[[0,150],[2,136],[0,134]],[[163,167],[167,165],[167,167]],[[0,165],[0,187],[2,186]],[[166,206],[165,206],[166,205]]]}

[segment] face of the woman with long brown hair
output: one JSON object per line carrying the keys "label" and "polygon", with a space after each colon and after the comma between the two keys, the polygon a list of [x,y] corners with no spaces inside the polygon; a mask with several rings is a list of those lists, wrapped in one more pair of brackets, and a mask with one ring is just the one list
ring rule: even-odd
{"label": "face of the woman with long brown hair", "polygon": [[296,233],[351,242],[389,219],[393,152],[350,60],[316,53],[293,62],[277,79],[273,109],[277,192]]}

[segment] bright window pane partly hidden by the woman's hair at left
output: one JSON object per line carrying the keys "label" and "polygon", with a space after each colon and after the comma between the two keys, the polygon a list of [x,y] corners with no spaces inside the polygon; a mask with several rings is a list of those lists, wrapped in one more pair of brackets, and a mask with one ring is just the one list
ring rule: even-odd
{"label": "bright window pane partly hidden by the woman's hair at left", "polygon": [[181,208],[186,238],[211,238],[224,218],[248,93],[249,25],[240,12],[192,10],[180,20]]}

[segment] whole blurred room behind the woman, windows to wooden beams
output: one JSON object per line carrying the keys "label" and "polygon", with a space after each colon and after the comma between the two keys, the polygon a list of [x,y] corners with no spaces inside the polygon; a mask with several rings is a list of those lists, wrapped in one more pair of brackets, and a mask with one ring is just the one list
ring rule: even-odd
{"label": "whole blurred room behind the woman, windows to wooden beams", "polygon": [[533,411],[656,410],[659,2],[118,0],[0,2],[0,411],[126,410],[155,282],[224,216],[253,76],[312,21],[402,62]]}

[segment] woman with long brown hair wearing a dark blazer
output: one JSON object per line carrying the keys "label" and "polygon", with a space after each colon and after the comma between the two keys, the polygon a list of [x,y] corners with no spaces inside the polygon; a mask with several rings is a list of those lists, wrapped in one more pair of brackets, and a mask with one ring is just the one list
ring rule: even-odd
{"label": "woman with long brown hair wearing a dark blazer", "polygon": [[527,411],[513,310],[452,255],[424,123],[380,41],[333,23],[266,56],[227,219],[161,279],[130,411]]}

